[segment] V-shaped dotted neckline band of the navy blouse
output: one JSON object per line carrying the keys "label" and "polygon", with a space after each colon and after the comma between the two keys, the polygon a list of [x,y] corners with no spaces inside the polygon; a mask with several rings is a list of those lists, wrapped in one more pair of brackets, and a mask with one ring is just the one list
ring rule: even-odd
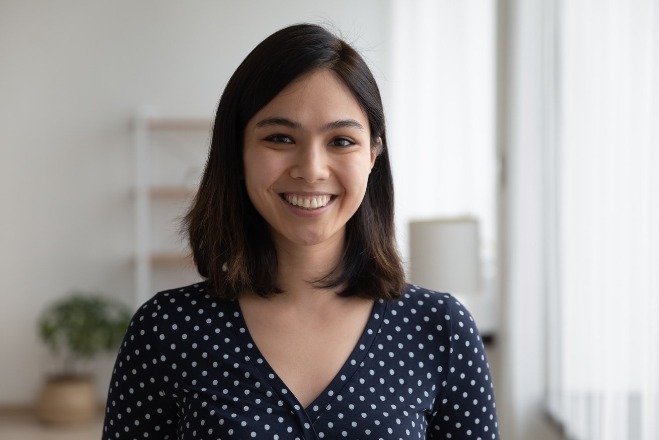
{"label": "V-shaped dotted neckline band of the navy blouse", "polygon": [[351,351],[350,356],[348,356],[345,363],[341,365],[338,373],[336,373],[331,381],[329,381],[327,387],[325,387],[325,389],[318,394],[318,396],[316,396],[306,408],[302,408],[302,404],[299,402],[295,394],[291,392],[281,377],[277,375],[270,363],[268,363],[268,360],[266,360],[259,350],[258,346],[256,346],[256,342],[254,342],[244,320],[243,311],[241,310],[239,302],[237,300],[229,301],[229,307],[231,309],[231,327],[233,327],[236,338],[241,344],[241,348],[244,350],[246,356],[248,356],[248,359],[254,365],[254,368],[261,373],[263,381],[270,386],[273,393],[275,393],[283,402],[289,404],[291,409],[297,411],[303,410],[303,412],[308,415],[308,418],[310,418],[310,422],[313,423],[341,393],[345,385],[351,381],[352,377],[357,373],[357,370],[364,364],[364,358],[366,358],[370,352],[370,348],[374,343],[378,332],[380,332],[380,327],[387,309],[387,303],[383,299],[376,299],[376,301],[374,301],[366,327],[364,327],[364,330],[357,341],[357,344]]}

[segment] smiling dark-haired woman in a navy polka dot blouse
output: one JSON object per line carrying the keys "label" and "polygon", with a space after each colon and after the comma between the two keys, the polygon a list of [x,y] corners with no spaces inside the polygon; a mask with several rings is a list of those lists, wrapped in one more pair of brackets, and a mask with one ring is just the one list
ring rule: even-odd
{"label": "smiling dark-haired woman in a navy polka dot blouse", "polygon": [[136,313],[104,439],[497,439],[478,330],[405,285],[380,93],[324,28],[259,44],[186,216],[205,282]]}

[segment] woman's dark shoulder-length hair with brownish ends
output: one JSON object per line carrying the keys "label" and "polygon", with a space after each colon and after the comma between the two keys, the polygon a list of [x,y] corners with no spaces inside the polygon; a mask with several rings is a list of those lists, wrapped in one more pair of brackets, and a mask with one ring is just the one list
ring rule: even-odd
{"label": "woman's dark shoulder-length hair with brownish ends", "polygon": [[364,200],[346,225],[340,263],[316,288],[345,287],[342,296],[397,298],[405,275],[393,228],[393,181],[378,85],[364,59],[314,24],[283,28],[261,42],[235,71],[217,106],[210,154],[198,193],[183,220],[194,263],[219,298],[243,292],[269,296],[277,253],[266,220],[248,198],[243,134],[248,121],[293,80],[326,69],[351,90],[368,115],[371,148],[378,152]]}

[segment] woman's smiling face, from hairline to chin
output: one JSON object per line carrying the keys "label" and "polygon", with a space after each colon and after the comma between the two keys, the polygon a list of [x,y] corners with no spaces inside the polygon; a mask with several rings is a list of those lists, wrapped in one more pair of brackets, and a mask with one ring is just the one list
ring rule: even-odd
{"label": "woman's smiling face, from hairline to chin", "polygon": [[247,193],[280,247],[343,244],[375,158],[366,114],[326,70],[293,81],[244,131]]}

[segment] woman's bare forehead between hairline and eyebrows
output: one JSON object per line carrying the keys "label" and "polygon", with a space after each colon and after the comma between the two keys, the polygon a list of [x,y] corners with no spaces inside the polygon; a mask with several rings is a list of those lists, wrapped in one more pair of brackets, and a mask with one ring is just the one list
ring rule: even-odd
{"label": "woman's bare forehead between hairline and eyebrows", "polygon": [[368,117],[351,90],[331,71],[320,69],[287,85],[247,124],[261,119],[285,117],[313,128],[340,119],[355,119],[368,127]]}

